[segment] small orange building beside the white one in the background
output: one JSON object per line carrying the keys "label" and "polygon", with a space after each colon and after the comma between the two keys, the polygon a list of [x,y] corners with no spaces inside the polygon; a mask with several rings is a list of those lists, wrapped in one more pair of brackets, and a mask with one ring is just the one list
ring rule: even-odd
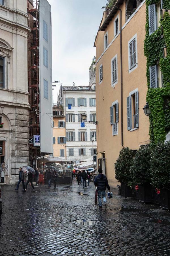
{"label": "small orange building beside the white one in the background", "polygon": [[63,106],[53,106],[53,156],[66,158],[66,130]]}

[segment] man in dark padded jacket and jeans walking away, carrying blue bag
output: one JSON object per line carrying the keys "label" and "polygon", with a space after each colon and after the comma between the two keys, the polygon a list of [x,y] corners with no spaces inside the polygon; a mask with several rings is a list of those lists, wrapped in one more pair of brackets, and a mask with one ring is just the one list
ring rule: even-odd
{"label": "man in dark padded jacket and jeans walking away, carrying blue bag", "polygon": [[95,177],[94,185],[97,187],[99,208],[102,208],[101,197],[103,197],[104,206],[105,208],[107,208],[106,187],[109,190],[109,192],[110,192],[110,187],[109,187],[107,177],[104,174],[102,174],[103,170],[99,168],[98,172],[99,172],[99,175]]}

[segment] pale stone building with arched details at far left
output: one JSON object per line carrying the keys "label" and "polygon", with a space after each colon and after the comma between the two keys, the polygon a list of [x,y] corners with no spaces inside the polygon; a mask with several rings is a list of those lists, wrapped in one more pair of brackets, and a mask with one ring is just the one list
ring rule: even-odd
{"label": "pale stone building with arched details at far left", "polygon": [[27,0],[1,0],[0,14],[0,176],[14,184],[29,162]]}

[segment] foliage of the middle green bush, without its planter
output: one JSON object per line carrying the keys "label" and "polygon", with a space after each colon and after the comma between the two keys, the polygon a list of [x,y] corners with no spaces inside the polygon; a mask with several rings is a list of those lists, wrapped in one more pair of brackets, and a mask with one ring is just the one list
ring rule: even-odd
{"label": "foliage of the middle green bush, without its planter", "polygon": [[149,185],[151,183],[150,159],[150,148],[139,148],[132,160],[130,168],[131,182],[129,186]]}

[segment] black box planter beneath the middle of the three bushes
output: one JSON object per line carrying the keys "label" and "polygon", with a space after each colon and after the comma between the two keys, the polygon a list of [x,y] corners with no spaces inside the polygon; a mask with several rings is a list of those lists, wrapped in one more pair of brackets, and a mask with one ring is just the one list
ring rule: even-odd
{"label": "black box planter beneath the middle of the three bushes", "polygon": [[152,187],[148,185],[139,185],[139,202],[153,203]]}

